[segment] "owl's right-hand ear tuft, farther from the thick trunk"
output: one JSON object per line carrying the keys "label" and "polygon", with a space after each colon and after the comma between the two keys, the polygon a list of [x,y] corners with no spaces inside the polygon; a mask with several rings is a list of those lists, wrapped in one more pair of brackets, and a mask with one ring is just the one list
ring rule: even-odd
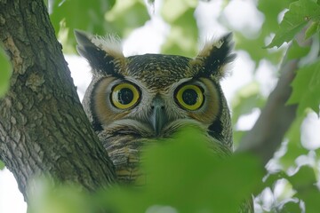
{"label": "owl's right-hand ear tuft, farther from the thick trunk", "polygon": [[234,43],[232,33],[222,36],[219,40],[205,43],[204,48],[198,53],[193,64],[203,67],[198,75],[207,75],[220,80],[226,75],[226,66],[236,58],[232,52]]}

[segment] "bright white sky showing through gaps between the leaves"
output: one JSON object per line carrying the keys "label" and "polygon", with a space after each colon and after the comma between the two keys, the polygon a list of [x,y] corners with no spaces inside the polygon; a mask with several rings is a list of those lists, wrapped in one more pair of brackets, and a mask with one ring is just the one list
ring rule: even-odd
{"label": "bright white sky showing through gaps between the leaves", "polygon": [[[200,2],[196,10],[198,24],[202,28],[200,37],[203,39],[221,36],[227,32],[227,29],[216,19],[220,4],[222,4],[222,0],[212,1],[211,3]],[[246,36],[257,33],[264,20],[263,15],[249,0],[231,1],[222,18],[228,23],[232,23],[233,28],[246,28]],[[220,21],[224,21],[223,19]],[[152,20],[148,21],[144,27],[135,30],[132,36],[124,41],[124,55],[159,52],[160,45],[164,43],[168,32],[169,27],[156,13]],[[244,51],[237,51],[236,53],[237,59],[232,66],[230,75],[221,83],[228,101],[230,102],[237,90],[252,82],[252,80],[261,83],[262,94],[267,97],[268,93],[276,86],[276,76],[273,75],[276,72],[270,72],[269,70],[274,70],[276,67],[270,65],[268,61],[262,60],[260,67],[254,72],[255,66],[250,56]],[[66,56],[66,59],[74,83],[77,86],[79,97],[83,99],[84,91],[91,79],[90,67],[84,59],[78,56]],[[241,70],[237,70],[238,67],[241,67]],[[259,109],[253,109],[252,114],[244,115],[239,119],[236,128],[238,130],[250,130],[259,114]],[[302,126],[306,127],[301,130],[302,145],[311,149],[320,147],[320,131],[318,131],[320,130],[320,120],[316,114],[309,114]],[[309,128],[310,126],[313,128]],[[12,173],[8,170],[0,170],[0,213],[25,213],[26,208],[26,203],[23,201]]]}

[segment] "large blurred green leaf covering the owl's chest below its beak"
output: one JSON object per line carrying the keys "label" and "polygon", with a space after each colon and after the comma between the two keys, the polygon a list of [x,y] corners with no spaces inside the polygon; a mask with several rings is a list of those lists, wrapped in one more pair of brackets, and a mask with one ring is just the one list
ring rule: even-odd
{"label": "large blurred green leaf covering the owl's chest below its beak", "polygon": [[209,142],[202,130],[190,127],[149,146],[142,157],[147,185],[109,191],[106,206],[122,213],[164,208],[236,212],[260,184],[263,167],[249,154],[220,159],[208,148]]}

